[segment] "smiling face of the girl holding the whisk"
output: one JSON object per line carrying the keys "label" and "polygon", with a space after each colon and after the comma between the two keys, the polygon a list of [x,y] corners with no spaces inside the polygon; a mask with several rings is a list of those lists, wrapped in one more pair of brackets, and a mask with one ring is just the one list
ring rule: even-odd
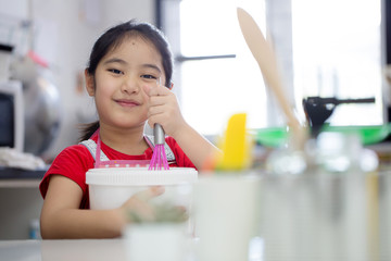
{"label": "smiling face of the girl holding the whisk", "polygon": [[101,125],[121,128],[143,126],[149,88],[165,83],[162,57],[139,36],[126,38],[99,62],[94,82],[87,75],[87,90],[94,96]]}

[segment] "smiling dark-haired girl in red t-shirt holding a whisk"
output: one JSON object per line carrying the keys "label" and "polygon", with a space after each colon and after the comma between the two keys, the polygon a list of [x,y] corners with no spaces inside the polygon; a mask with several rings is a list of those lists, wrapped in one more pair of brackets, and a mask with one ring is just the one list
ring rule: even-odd
{"label": "smiling dark-haired girl in red t-shirt holding a whisk", "polygon": [[[94,44],[85,71],[99,121],[85,129],[81,140],[97,142],[99,137],[101,151],[110,160],[150,160],[153,151],[143,127],[147,121],[151,127],[159,123],[175,156],[171,166],[201,169],[217,149],[184,120],[171,91],[172,74],[168,44],[152,25],[129,21],[105,32]],[[86,172],[93,164],[84,145],[67,147],[55,158],[39,186],[45,198],[42,238],[117,237],[127,222],[125,209],[142,211],[142,200],[164,190],[152,187],[118,209],[90,210]]]}

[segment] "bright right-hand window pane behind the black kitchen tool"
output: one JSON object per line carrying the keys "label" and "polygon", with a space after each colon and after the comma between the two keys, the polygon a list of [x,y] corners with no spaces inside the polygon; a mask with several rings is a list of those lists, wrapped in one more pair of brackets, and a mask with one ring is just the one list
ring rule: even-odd
{"label": "bright right-hand window pane behind the black kitchen tool", "polygon": [[375,97],[376,103],[338,105],[330,122],[381,124],[380,20],[380,0],[292,1],[297,99]]}

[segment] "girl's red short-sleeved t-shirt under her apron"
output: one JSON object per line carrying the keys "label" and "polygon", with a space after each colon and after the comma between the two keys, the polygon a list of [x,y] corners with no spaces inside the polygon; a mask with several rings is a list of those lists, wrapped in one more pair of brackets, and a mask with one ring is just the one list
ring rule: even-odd
{"label": "girl's red short-sleeved t-shirt under her apron", "polygon": [[[92,139],[97,142],[97,135]],[[169,166],[182,166],[182,167],[194,167],[194,164],[189,160],[189,158],[184,153],[181,148],[172,137],[166,137],[166,144],[172,149],[175,154],[176,163],[169,164]],[[124,154],[119,151],[116,151],[105,144],[101,142],[101,150],[106,154],[109,160],[151,160],[153,151],[151,148],[148,148],[143,154],[139,156],[129,156]],[[88,185],[86,184],[86,173],[89,169],[93,169],[94,159],[92,158],[91,152],[84,145],[73,145],[65,148],[60,154],[54,159],[53,163],[45,174],[40,185],[39,190],[45,198],[50,175],[62,175],[71,178],[77,185],[80,186],[83,190],[83,199],[80,202],[80,209],[89,209],[89,195],[88,195]]]}

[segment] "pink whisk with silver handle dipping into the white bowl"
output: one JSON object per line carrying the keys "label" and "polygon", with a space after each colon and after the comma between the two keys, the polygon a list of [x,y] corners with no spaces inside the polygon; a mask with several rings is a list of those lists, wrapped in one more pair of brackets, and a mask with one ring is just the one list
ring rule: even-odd
{"label": "pink whisk with silver handle dipping into the white bowl", "polygon": [[165,154],[164,144],[165,144],[165,134],[162,125],[156,123],[153,127],[153,136],[154,136],[154,149],[151,159],[151,163],[148,167],[151,170],[169,170],[167,157]]}

